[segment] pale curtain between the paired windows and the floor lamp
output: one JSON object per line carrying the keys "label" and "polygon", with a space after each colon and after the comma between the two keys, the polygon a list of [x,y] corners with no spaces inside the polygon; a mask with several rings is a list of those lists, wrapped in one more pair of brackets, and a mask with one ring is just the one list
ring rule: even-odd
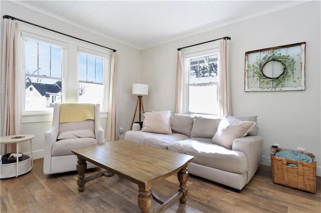
{"label": "pale curtain between the paired windows and the floor lamp", "polygon": [[116,52],[111,53],[111,70],[108,99],[108,118],[106,129],[106,140],[115,141],[118,139],[118,87],[117,87],[117,58]]}

